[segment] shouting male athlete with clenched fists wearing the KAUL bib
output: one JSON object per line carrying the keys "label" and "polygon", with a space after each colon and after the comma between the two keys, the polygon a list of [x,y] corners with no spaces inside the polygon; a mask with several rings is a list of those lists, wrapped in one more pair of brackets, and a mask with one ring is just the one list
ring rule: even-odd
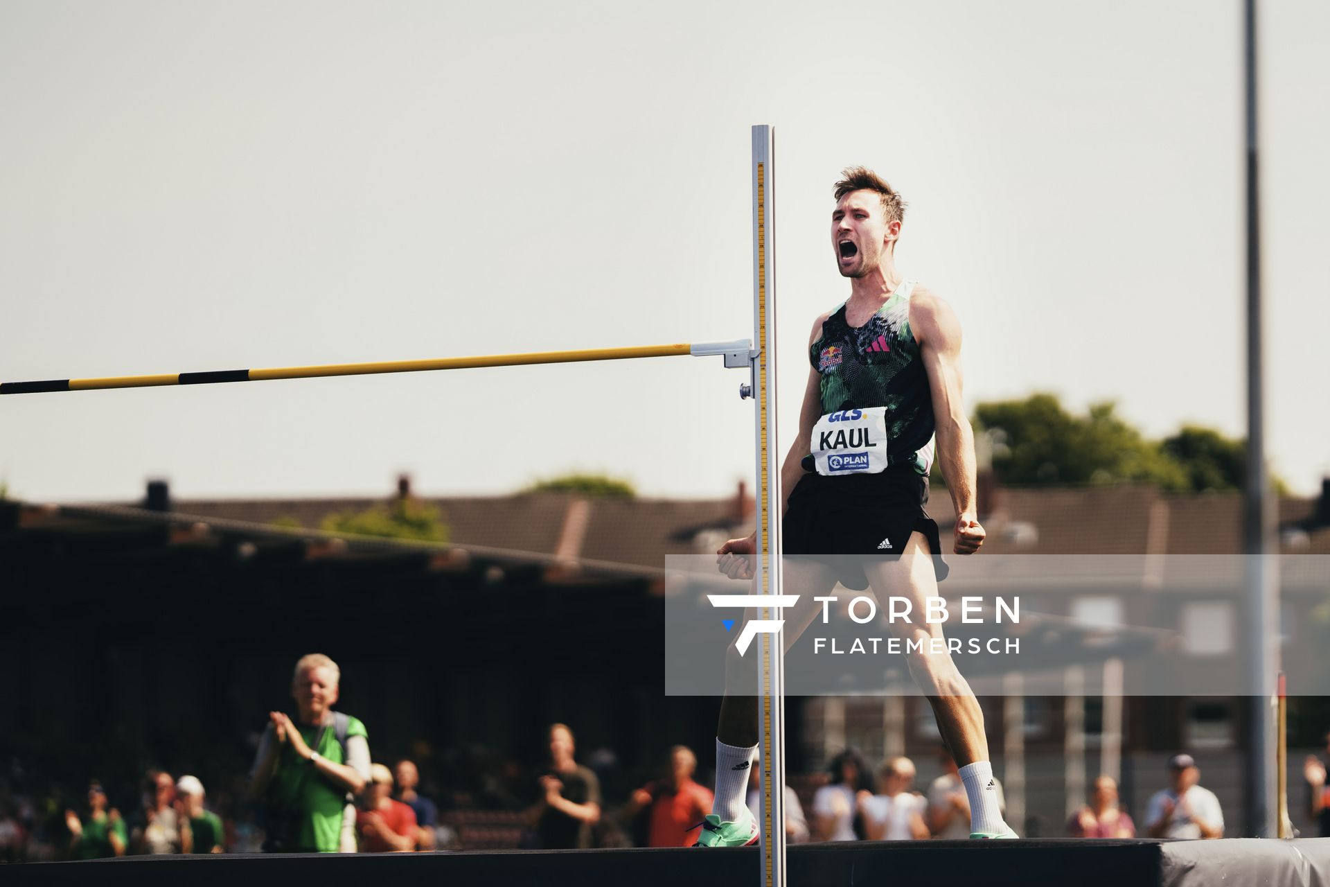
{"label": "shouting male athlete with clenched fists wearing the KAUL bib", "polygon": [[[912,613],[936,596],[947,567],[934,560],[942,549],[938,524],[923,511],[935,431],[956,508],[952,551],[972,555],[984,543],[975,443],[960,394],[960,323],[951,306],[896,273],[900,195],[862,166],[843,176],[835,184],[831,249],[841,277],[850,279],[850,298],[813,323],[799,436],[781,467],[783,589],[799,594],[798,605],[783,610],[786,650],[821,612],[813,598],[837,581],[854,590],[871,586],[879,600],[910,597]],[[750,578],[754,548],[755,533],[725,543],[717,552],[721,572]],[[970,836],[1015,838],[999,811],[979,702],[946,644],[930,644],[942,638],[942,626],[892,621],[890,628],[906,649],[906,640],[923,641],[920,652],[907,653],[910,674],[960,765]],[[728,688],[741,662],[732,644]],[[757,698],[726,693],[716,733],[716,802],[698,846],[750,844],[758,826],[745,786],[758,742]]]}

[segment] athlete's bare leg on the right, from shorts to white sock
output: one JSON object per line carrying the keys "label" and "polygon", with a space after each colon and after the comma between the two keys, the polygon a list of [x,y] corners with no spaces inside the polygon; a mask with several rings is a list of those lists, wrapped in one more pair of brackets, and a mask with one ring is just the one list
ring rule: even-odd
{"label": "athlete's bare leg on the right, from shorts to white sock", "polygon": [[[938,596],[938,577],[932,567],[932,552],[923,533],[910,535],[899,560],[876,561],[864,568],[868,584],[878,598],[879,613],[888,612],[883,604],[892,594],[908,597],[911,622],[896,621],[888,625],[895,637],[923,641],[922,653],[907,653],[910,677],[928,698],[938,730],[951,749],[958,766],[975,761],[988,761],[988,739],[984,735],[984,714],[979,707],[970,684],[947,652],[946,642],[940,653],[930,652],[931,638],[942,638],[942,625],[928,625],[923,621],[924,602]],[[908,648],[907,648],[908,649]]]}

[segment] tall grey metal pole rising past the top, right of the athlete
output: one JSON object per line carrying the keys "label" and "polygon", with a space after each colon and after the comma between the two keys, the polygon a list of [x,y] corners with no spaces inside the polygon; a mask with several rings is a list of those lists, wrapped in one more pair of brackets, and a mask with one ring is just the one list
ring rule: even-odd
{"label": "tall grey metal pole rising past the top, right of the athlete", "polygon": [[1261,203],[1257,145],[1256,0],[1244,0],[1244,73],[1246,114],[1246,346],[1248,448],[1244,484],[1242,553],[1246,564],[1246,834],[1274,834],[1274,723],[1270,696],[1279,670],[1279,548],[1275,503],[1265,460],[1262,375]]}

